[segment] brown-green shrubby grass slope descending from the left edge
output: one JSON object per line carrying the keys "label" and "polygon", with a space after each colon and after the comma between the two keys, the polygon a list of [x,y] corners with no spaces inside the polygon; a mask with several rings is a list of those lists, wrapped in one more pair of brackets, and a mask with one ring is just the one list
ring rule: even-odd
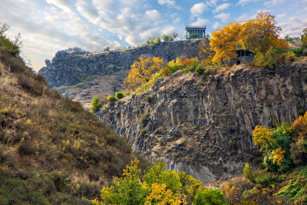
{"label": "brown-green shrubby grass slope descending from the left edge", "polygon": [[90,204],[133,157],[110,127],[0,49],[0,204]]}

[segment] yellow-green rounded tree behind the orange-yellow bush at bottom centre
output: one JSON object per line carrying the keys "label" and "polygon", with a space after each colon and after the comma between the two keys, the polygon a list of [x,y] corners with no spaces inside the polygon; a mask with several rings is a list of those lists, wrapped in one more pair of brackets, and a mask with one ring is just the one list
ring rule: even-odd
{"label": "yellow-green rounded tree behind the orange-yellow bush at bottom centre", "polygon": [[143,180],[146,181],[149,187],[151,187],[153,183],[165,183],[167,189],[173,192],[180,191],[182,189],[182,184],[179,175],[173,170],[165,171],[165,169],[165,163],[157,161],[153,164],[152,168],[145,172]]}

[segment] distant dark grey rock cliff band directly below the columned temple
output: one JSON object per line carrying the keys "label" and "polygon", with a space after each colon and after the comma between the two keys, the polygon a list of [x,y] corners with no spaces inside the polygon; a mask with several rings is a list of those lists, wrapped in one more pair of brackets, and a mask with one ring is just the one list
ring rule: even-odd
{"label": "distant dark grey rock cliff band directly below the columned temple", "polygon": [[55,87],[74,85],[90,75],[111,75],[120,70],[130,70],[130,65],[140,55],[163,58],[169,62],[179,57],[185,46],[197,48],[198,40],[168,41],[133,49],[90,53],[80,48],[58,51],[52,61],[45,60],[46,67],[38,73]]}

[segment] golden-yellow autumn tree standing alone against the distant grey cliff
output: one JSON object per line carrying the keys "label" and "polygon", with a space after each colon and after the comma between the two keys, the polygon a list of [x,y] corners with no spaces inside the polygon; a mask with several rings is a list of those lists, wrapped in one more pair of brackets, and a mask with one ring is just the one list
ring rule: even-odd
{"label": "golden-yellow autumn tree standing alone against the distant grey cliff", "polygon": [[163,59],[158,57],[144,58],[144,55],[142,55],[131,65],[131,71],[124,80],[123,86],[126,89],[135,90],[140,85],[150,81],[154,74],[160,72],[164,66]]}

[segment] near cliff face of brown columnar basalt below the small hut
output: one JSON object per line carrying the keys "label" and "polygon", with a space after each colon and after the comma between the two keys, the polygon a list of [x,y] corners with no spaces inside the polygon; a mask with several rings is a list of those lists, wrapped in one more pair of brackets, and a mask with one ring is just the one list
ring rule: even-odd
{"label": "near cliff face of brown columnar basalt below the small hut", "polygon": [[239,173],[257,157],[256,125],[271,128],[275,120],[293,121],[299,109],[307,110],[307,65],[232,69],[208,78],[174,73],[96,115],[135,152],[161,158],[169,169],[202,182]]}

